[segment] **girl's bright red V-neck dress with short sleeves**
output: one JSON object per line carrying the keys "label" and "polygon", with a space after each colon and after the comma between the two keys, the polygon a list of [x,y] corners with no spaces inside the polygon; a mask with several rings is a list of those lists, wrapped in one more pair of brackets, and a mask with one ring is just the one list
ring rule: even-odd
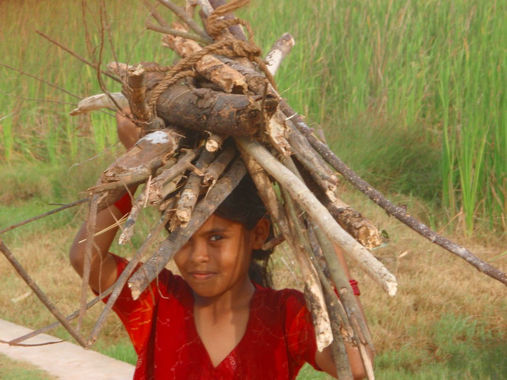
{"label": "girl's bright red V-neck dress with short sleeves", "polygon": [[[115,258],[120,274],[127,260]],[[303,294],[255,286],[245,334],[216,367],[197,333],[192,289],[182,277],[164,270],[137,300],[125,287],[113,309],[138,355],[134,379],[294,379],[305,362],[318,369]]]}

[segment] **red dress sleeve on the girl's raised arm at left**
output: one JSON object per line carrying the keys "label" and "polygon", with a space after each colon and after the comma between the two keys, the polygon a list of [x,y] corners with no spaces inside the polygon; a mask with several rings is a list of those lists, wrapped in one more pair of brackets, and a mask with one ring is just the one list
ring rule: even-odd
{"label": "red dress sleeve on the girl's raised arm at left", "polygon": [[[116,261],[118,278],[127,267],[128,260],[115,254],[112,255]],[[132,298],[132,293],[128,285],[125,284],[113,306],[113,310],[125,326],[137,354],[146,343],[146,339],[150,337],[155,305],[160,298],[160,292],[166,291],[165,286],[171,277],[172,274],[169,271],[163,270],[159,275],[158,287],[157,281],[154,281],[137,299]],[[162,286],[164,289],[161,289]],[[105,297],[103,301],[107,302],[108,299],[109,297]]]}

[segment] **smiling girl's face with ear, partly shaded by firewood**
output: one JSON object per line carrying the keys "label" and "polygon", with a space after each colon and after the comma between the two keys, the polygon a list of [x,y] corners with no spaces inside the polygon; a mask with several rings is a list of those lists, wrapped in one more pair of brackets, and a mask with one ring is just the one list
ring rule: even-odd
{"label": "smiling girl's face with ear, partly shaded by firewood", "polygon": [[241,223],[213,214],[176,253],[174,261],[197,295],[220,296],[249,282],[252,251],[262,248],[268,234],[267,219],[248,231]]}

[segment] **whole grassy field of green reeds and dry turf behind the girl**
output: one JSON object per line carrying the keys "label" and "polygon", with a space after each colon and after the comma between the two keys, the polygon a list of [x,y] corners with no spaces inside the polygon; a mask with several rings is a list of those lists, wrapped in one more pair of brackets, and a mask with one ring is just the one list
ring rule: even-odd
{"label": "whole grassy field of green reeds and dry turf behind the girl", "polygon": [[[34,31],[92,60],[100,43],[98,3],[88,3],[85,24],[78,0],[0,2],[0,63],[68,92],[0,66],[0,229],[56,207],[49,203],[82,198],[79,192],[122,153],[110,115],[67,115],[80,97],[102,92],[96,72]],[[278,87],[309,124],[323,128],[337,155],[395,203],[408,205],[412,215],[507,270],[507,4],[251,3],[238,15],[252,23],[263,51],[283,32],[295,37],[296,47],[276,75]],[[103,63],[114,60],[112,46],[122,62],[172,63],[160,36],[143,30],[148,11],[142,2],[106,6],[112,44],[106,39]],[[111,91],[120,90],[104,81]],[[389,245],[374,254],[400,284],[390,299],[354,271],[377,348],[377,378],[502,378],[505,287],[391,220],[346,184],[340,191],[388,232]],[[66,313],[78,305],[79,279],[66,256],[84,213],[83,207],[64,211],[2,235]],[[142,231],[151,223],[148,216]],[[129,257],[142,231],[134,247],[115,252]],[[283,251],[275,256],[280,287],[299,285],[284,263],[290,260]],[[0,260],[0,273],[0,318],[33,328],[53,322],[35,297],[12,301],[26,286],[6,260]],[[92,310],[85,328],[97,316]],[[68,337],[61,329],[54,334]],[[95,349],[135,361],[115,318]],[[305,368],[299,378],[326,377]]]}

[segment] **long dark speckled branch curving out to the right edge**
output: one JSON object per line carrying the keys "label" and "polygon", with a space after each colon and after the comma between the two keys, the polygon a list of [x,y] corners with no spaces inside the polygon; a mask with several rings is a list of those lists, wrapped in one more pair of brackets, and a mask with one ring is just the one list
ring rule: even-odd
{"label": "long dark speckled branch curving out to the right edge", "polygon": [[431,243],[437,244],[449,252],[454,253],[456,256],[462,258],[469,264],[472,264],[479,272],[482,272],[507,286],[507,274],[505,274],[505,272],[502,272],[487,262],[483,261],[472,252],[468,251],[465,247],[462,247],[461,245],[456,244],[451,240],[441,236],[435,231],[432,231],[427,225],[410,216],[405,208],[394,205],[377,189],[360,178],[343,161],[336,157],[336,155],[333,153],[333,151],[331,151],[331,149],[329,149],[327,145],[317,139],[313,135],[311,129],[304,123],[304,121],[297,115],[297,113],[286,104],[284,100],[281,100],[281,107],[285,115],[292,118],[292,120],[295,122],[295,125],[308,138],[320,156],[322,156],[326,162],[334,167],[350,183],[352,183],[361,193],[365,194],[373,202],[382,207],[389,215],[394,216],[396,219],[409,226],[412,230],[424,236]]}

